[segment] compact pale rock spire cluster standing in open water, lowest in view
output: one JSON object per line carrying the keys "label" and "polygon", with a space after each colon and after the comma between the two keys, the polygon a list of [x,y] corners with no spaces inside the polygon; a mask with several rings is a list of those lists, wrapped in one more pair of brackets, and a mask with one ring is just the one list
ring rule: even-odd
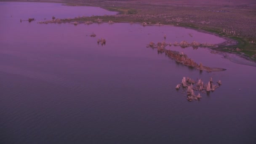
{"label": "compact pale rock spire cluster standing in open water, lowest in view", "polygon": [[[194,86],[195,84],[195,86]],[[210,91],[215,91],[216,88],[219,88],[221,85],[221,80],[217,82],[217,85],[213,83],[212,77],[210,78],[209,82],[204,85],[202,79],[199,79],[197,82],[192,80],[189,77],[183,77],[181,83],[176,85],[176,89],[179,89],[181,86],[187,90],[187,100],[200,100],[202,97],[200,96],[201,93],[210,93]],[[199,91],[196,95],[194,91]]]}

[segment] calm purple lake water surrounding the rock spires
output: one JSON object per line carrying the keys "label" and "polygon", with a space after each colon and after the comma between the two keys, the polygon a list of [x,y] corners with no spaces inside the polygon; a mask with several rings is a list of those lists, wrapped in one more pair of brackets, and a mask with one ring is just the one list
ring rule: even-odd
{"label": "calm purple lake water surrounding the rock spires", "polygon": [[[171,43],[224,39],[171,26],[20,23],[29,17],[104,14],[115,13],[55,3],[0,3],[1,143],[256,142],[256,67],[207,48],[167,47],[205,66],[227,69],[199,72],[146,48],[150,41],[163,41],[164,34]],[[101,37],[106,45],[97,44]],[[213,77],[223,85],[189,102],[182,89],[175,89],[184,76],[204,82]]]}

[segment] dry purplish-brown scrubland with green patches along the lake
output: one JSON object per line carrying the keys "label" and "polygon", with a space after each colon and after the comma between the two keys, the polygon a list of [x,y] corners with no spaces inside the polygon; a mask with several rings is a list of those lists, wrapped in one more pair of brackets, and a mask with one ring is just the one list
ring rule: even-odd
{"label": "dry purplish-brown scrubland with green patches along the lake", "polygon": [[[6,1],[6,0],[0,0]],[[118,11],[116,16],[77,16],[44,23],[131,22],[144,25],[175,25],[203,29],[231,37],[237,45],[221,46],[219,51],[245,53],[256,57],[256,0],[15,0],[59,2],[67,5],[89,5]],[[100,21],[99,21],[100,20]],[[235,51],[240,48],[241,51]]]}

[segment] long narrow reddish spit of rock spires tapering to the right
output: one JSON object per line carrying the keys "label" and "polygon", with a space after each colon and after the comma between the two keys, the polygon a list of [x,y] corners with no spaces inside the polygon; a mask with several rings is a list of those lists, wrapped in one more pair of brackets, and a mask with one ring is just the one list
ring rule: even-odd
{"label": "long narrow reddish spit of rock spires tapering to the right", "polygon": [[[186,66],[189,66],[189,67],[195,67],[196,69],[205,70],[207,72],[215,71],[215,69],[213,69],[213,68],[203,66],[202,63],[197,64],[195,61],[190,59],[183,52],[180,53],[180,52],[177,52],[177,51],[171,51],[171,50],[165,49],[165,47],[167,45],[171,45],[171,44],[167,44],[167,43],[165,43],[165,41],[163,41],[162,43],[159,42],[155,45],[155,43],[150,42],[147,47],[151,47],[153,49],[157,48],[158,53],[165,53],[165,55],[167,55],[169,58],[174,59],[176,62],[181,63],[183,65],[186,65]],[[221,71],[221,69],[218,69],[218,71]]]}

